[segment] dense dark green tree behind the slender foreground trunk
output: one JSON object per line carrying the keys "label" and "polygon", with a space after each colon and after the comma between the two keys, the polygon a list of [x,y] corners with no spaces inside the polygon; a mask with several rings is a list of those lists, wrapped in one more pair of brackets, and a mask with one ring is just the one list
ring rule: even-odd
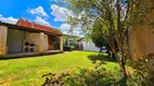
{"label": "dense dark green tree behind the slender foreground trunk", "polygon": [[[105,47],[104,49],[106,51],[108,56],[115,57],[115,55],[112,53],[110,44],[106,42],[107,38],[103,29],[104,29],[103,24],[99,20],[95,20],[94,25],[91,28],[91,32],[88,33],[88,37],[92,40],[95,46],[100,48],[100,53],[103,51],[103,47]],[[117,47],[116,43],[115,46]]]}

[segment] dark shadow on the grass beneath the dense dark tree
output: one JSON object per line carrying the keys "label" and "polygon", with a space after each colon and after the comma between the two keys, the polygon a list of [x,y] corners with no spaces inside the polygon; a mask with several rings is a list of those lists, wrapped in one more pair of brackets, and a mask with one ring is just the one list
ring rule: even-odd
{"label": "dark shadow on the grass beneath the dense dark tree", "polygon": [[117,62],[116,58],[108,57],[107,55],[89,55],[88,58],[95,63],[97,60],[100,60],[101,62],[104,61],[112,61],[112,62]]}

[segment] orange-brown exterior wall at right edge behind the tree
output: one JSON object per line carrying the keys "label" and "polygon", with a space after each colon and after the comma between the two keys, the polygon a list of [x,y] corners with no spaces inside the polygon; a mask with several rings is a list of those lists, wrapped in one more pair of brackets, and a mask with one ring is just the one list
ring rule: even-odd
{"label": "orange-brown exterior wall at right edge behind the tree", "polygon": [[[147,14],[150,23],[154,23],[154,10]],[[136,26],[129,30],[130,55],[133,58],[145,57],[154,54],[154,29],[149,25]]]}

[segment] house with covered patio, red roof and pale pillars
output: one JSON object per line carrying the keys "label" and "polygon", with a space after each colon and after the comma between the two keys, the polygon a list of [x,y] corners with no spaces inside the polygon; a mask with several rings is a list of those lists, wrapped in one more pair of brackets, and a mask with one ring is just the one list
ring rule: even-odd
{"label": "house with covered patio, red roof and pale pillars", "polygon": [[[57,45],[59,44],[59,45]],[[42,54],[63,52],[63,34],[60,30],[20,18],[16,25],[0,22],[0,55]]]}

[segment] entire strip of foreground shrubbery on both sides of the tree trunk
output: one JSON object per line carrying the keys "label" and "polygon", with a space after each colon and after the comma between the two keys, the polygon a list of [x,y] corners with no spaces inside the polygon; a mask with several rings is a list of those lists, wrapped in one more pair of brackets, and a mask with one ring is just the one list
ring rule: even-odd
{"label": "entire strip of foreground shrubbery on both sides of the tree trunk", "polygon": [[[95,62],[91,69],[79,69],[78,72],[61,74],[49,73],[43,75],[46,82],[42,86],[153,86],[154,72],[146,67],[145,59],[127,61],[128,78],[117,73],[106,71],[102,62]],[[117,69],[115,69],[117,70]],[[131,71],[131,72],[129,72]],[[120,77],[120,78],[119,78]]]}

